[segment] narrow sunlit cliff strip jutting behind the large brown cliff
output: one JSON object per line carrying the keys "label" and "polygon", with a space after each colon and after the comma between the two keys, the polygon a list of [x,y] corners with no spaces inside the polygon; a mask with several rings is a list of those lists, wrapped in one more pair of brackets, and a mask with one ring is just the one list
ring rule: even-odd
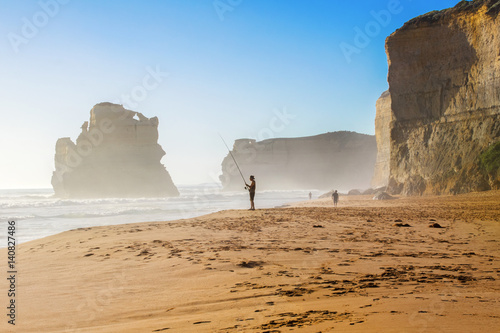
{"label": "narrow sunlit cliff strip jutting behind the large brown cliff", "polygon": [[385,91],[377,100],[375,116],[375,137],[377,139],[377,161],[373,172],[372,187],[383,187],[389,183],[391,160],[391,94]]}

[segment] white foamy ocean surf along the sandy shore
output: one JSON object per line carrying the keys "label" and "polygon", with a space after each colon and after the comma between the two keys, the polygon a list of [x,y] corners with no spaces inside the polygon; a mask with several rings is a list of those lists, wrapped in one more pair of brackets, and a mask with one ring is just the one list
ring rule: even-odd
{"label": "white foamy ocean surf along the sandy shore", "polygon": [[[0,248],[7,246],[8,221],[16,221],[16,242],[63,231],[115,224],[173,221],[227,209],[248,209],[248,192],[224,192],[218,184],[178,186],[176,198],[60,199],[52,189],[0,190]],[[257,191],[255,206],[273,208],[317,198],[322,192]],[[179,223],[182,223],[180,221]],[[3,230],[2,230],[3,229]]]}

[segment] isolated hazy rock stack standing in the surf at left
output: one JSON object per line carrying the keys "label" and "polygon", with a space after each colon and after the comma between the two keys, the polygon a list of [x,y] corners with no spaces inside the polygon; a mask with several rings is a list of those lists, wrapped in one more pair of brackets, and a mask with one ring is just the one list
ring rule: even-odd
{"label": "isolated hazy rock stack standing in the surf at left", "polygon": [[76,144],[56,143],[52,186],[59,197],[164,197],[179,192],[160,163],[158,118],[100,103]]}

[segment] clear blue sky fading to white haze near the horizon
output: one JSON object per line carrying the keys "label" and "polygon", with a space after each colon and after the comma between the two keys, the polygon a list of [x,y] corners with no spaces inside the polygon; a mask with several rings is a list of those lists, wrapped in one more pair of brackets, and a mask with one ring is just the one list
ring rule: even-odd
{"label": "clear blue sky fading to white haze near the horizon", "polygon": [[214,180],[217,133],[374,134],[385,38],[457,2],[0,0],[0,188],[51,187],[56,140],[105,101],[159,117],[176,184]]}

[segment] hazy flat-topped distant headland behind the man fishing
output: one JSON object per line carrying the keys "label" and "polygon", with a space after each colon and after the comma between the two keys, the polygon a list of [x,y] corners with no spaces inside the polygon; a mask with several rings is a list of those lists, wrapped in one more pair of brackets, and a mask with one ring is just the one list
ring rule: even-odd
{"label": "hazy flat-topped distant headland behind the man fishing", "polygon": [[[245,178],[256,177],[258,190],[366,188],[376,153],[373,135],[354,132],[260,142],[241,139],[232,150]],[[220,180],[225,190],[243,189],[229,154],[222,162]]]}

